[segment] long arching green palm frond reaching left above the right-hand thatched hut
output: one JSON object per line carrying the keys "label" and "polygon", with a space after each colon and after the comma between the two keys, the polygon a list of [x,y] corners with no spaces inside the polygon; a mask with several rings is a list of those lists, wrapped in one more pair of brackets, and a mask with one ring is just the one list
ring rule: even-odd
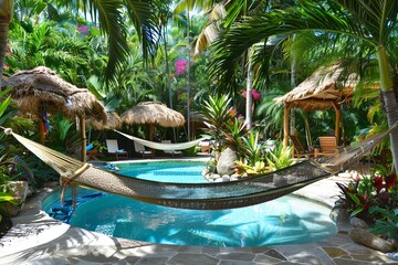
{"label": "long arching green palm frond reaching left above the right-hand thatched hut", "polygon": [[296,9],[275,10],[234,23],[223,38],[212,45],[214,60],[210,64],[209,73],[223,87],[228,87],[234,77],[233,66],[253,44],[270,36],[305,31],[345,33],[371,42],[368,39],[369,32],[365,32],[364,28],[344,10],[334,9],[329,12],[322,6],[305,1]]}

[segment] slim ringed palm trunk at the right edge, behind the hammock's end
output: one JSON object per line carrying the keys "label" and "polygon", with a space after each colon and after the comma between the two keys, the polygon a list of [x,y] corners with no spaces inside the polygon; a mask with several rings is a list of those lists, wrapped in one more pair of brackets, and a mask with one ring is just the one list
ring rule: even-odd
{"label": "slim ringed palm trunk at the right edge, behind the hammock's end", "polygon": [[[387,116],[388,126],[391,127],[398,121],[398,105],[394,94],[394,83],[389,70],[386,47],[380,45],[377,49],[377,60],[380,71],[380,86],[381,96],[385,105],[385,113]],[[392,130],[390,134],[391,152],[394,159],[394,167],[398,169],[398,130]]]}

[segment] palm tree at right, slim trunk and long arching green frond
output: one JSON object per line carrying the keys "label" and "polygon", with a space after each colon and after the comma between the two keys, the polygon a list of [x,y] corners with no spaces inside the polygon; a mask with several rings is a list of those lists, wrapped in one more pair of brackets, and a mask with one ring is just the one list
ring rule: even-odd
{"label": "palm tree at right, slim trunk and long arching green frond", "polygon": [[[328,31],[356,38],[375,49],[378,61],[381,95],[389,126],[398,121],[397,100],[389,70],[388,40],[397,23],[398,1],[303,1],[300,7],[275,10],[237,23],[214,45],[217,57],[211,75],[222,84],[232,78],[231,65],[252,44],[273,35],[291,35],[305,31]],[[390,134],[395,168],[398,168],[398,130]]]}

